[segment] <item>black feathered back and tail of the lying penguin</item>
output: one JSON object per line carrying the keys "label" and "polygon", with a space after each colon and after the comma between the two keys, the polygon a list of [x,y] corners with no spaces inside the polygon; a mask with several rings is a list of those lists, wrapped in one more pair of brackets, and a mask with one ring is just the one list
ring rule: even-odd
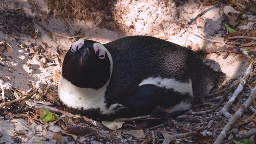
{"label": "black feathered back and tail of the lying penguin", "polygon": [[113,72],[105,95],[108,106],[123,104],[142,80],[159,76],[180,82],[188,82],[190,78],[194,102],[203,102],[225,76],[206,66],[194,51],[151,36],[129,36],[104,46],[113,59]]}

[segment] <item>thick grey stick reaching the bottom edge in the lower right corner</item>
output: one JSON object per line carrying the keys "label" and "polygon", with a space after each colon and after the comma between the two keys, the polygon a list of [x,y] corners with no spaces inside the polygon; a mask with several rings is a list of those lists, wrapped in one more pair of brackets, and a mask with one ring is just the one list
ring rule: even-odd
{"label": "thick grey stick reaching the bottom edge in the lower right corner", "polygon": [[240,106],[240,108],[236,111],[236,113],[234,113],[234,115],[228,120],[227,124],[224,126],[224,128],[220,132],[220,135],[218,136],[214,144],[219,144],[220,142],[222,142],[222,140],[224,140],[231,126],[236,122],[236,120],[238,120],[238,118],[241,117],[244,110],[246,110],[250,106],[250,104],[252,104],[252,101],[256,98],[255,95],[256,95],[256,86],[253,88],[246,102],[244,102],[244,104]]}

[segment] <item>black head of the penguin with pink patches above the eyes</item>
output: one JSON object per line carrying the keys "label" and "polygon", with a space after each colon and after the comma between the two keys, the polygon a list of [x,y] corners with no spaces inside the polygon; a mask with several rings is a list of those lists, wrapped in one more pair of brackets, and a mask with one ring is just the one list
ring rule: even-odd
{"label": "black head of the penguin with pink patches above the eyes", "polygon": [[77,87],[98,90],[109,82],[112,67],[112,57],[102,44],[78,40],[66,53],[62,77]]}

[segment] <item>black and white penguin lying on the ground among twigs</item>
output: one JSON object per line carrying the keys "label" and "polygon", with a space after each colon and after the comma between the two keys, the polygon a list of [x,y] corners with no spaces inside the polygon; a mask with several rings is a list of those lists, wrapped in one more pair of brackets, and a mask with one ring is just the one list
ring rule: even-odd
{"label": "black and white penguin lying on the ground among twigs", "polygon": [[205,102],[224,78],[196,52],[159,38],[78,40],[64,57],[58,96],[64,110],[94,120],[148,115],[156,106],[175,114]]}

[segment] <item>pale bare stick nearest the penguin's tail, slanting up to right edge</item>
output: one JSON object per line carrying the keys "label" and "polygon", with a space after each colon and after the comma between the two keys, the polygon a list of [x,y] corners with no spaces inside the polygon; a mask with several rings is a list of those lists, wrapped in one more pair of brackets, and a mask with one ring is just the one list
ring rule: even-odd
{"label": "pale bare stick nearest the penguin's tail, slanting up to right edge", "polygon": [[[252,62],[253,63],[253,62]],[[249,78],[250,76],[250,72],[252,70],[252,63],[248,66],[248,68],[246,69],[246,72],[244,73],[244,76],[240,82],[240,84],[238,85],[238,87],[236,88],[236,90],[234,91],[234,94],[231,96],[231,98],[228,100],[228,102],[223,106],[223,108],[220,110],[220,113],[223,114],[226,118],[230,118],[232,115],[228,112],[228,109],[230,108],[230,106],[233,104],[233,102],[235,101],[236,97],[238,96],[238,94],[240,94],[240,92],[243,90],[244,88],[244,84],[246,83],[246,80]]]}

